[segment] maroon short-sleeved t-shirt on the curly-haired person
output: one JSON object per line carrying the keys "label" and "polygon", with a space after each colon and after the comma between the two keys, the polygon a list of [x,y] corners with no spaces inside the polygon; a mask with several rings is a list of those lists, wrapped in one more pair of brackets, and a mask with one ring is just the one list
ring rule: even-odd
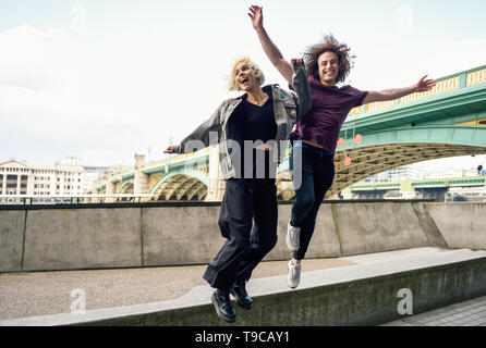
{"label": "maroon short-sleeved t-shirt on the curly-haired person", "polygon": [[351,109],[363,104],[367,91],[350,85],[328,87],[314,76],[307,77],[312,91],[313,108],[296,125],[299,139],[319,145],[335,153],[339,132]]}

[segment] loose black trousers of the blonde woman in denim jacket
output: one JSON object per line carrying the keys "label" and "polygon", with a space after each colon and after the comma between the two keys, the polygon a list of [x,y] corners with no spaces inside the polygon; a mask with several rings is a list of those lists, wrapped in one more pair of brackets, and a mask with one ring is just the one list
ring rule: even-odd
{"label": "loose black trousers of the blonde woman in denim jacket", "polygon": [[227,240],[206,269],[204,279],[223,290],[236,279],[248,281],[277,244],[277,220],[275,178],[228,179],[218,220]]}

